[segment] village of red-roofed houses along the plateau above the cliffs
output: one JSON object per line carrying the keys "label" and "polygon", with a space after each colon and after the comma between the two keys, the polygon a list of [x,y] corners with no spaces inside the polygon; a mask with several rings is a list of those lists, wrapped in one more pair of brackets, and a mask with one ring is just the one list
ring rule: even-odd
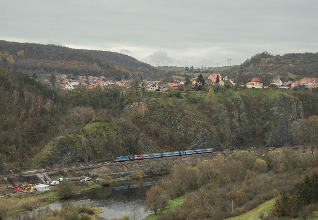
{"label": "village of red-roofed houses along the plateau above the cliffs", "polygon": [[[194,77],[191,79],[186,78],[186,80],[180,80],[177,78],[173,79],[173,83],[167,83],[163,81],[147,81],[147,80],[140,80],[139,83],[139,90],[142,91],[169,91],[171,88],[180,89],[180,90],[195,90],[196,84],[198,81],[198,77]],[[252,89],[252,88],[268,88],[268,85],[264,83],[261,78],[261,74],[259,73],[259,77],[254,77],[250,82],[238,83],[237,78],[228,79],[227,76],[223,78],[219,73],[213,74],[211,71],[210,76],[206,79],[203,78],[205,85],[208,87],[225,87],[231,88],[234,87],[235,84],[238,84],[240,87]],[[86,86],[87,89],[93,89],[96,86],[101,86],[102,88],[107,88],[109,86],[117,85],[119,87],[128,87],[132,83],[132,79],[129,80],[110,80],[107,79],[105,76],[100,77],[93,77],[89,76],[87,79],[82,80],[75,80],[74,78],[66,78],[66,79],[56,79],[55,86],[59,87],[61,90],[73,90],[75,87],[78,86]],[[48,79],[43,80],[44,83],[50,83],[51,81]],[[268,83],[267,83],[268,84]],[[298,81],[287,81],[282,82],[280,79],[273,79],[269,85],[269,88],[274,89],[311,89],[318,87],[318,79],[315,78],[302,78]]]}

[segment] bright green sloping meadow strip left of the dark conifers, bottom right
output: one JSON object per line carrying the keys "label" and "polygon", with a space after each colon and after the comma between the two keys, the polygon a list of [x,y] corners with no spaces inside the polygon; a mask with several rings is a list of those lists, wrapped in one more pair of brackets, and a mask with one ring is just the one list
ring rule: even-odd
{"label": "bright green sloping meadow strip left of the dark conifers, bottom right", "polygon": [[265,203],[260,204],[255,209],[252,209],[251,211],[248,211],[240,216],[227,218],[226,220],[259,220],[259,215],[263,212],[266,215],[267,210],[273,207],[273,204],[275,202],[275,198],[268,200]]}

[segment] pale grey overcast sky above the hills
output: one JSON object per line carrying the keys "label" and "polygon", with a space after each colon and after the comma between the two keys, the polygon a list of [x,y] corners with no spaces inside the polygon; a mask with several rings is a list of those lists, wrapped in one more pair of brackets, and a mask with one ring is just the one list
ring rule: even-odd
{"label": "pale grey overcast sky above the hills", "polygon": [[227,66],[263,51],[317,52],[318,1],[0,0],[0,39]]}

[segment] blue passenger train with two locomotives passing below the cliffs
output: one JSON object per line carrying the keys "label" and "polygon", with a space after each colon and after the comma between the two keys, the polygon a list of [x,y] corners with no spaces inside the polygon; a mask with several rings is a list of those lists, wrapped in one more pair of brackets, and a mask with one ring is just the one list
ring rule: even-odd
{"label": "blue passenger train with two locomotives passing below the cliffs", "polygon": [[119,161],[129,161],[129,160],[142,160],[150,158],[160,158],[160,157],[173,157],[187,154],[201,154],[213,152],[213,148],[199,149],[199,150],[183,150],[165,153],[153,153],[153,154],[142,154],[142,155],[131,155],[131,156],[120,156],[113,159],[114,162]]}

